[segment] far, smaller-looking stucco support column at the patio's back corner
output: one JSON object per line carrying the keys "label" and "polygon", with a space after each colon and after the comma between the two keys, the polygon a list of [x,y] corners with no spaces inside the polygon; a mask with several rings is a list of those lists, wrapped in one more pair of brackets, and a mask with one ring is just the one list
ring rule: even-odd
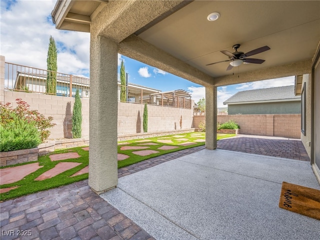
{"label": "far, smaller-looking stucco support column at the patio's back corner", "polygon": [[205,148],[216,148],[216,86],[205,86]]}

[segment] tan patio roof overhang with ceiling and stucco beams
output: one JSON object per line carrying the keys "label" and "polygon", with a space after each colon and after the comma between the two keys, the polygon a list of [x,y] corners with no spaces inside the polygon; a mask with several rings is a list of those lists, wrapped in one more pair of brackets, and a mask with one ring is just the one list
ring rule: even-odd
{"label": "tan patio roof overhang with ceiling and stucco beams", "polygon": [[[220,18],[208,21],[214,11]],[[52,19],[59,29],[104,35],[119,43],[124,55],[219,86],[309,73],[320,39],[318,12],[319,1],[59,0]],[[101,19],[103,24],[95,24]],[[241,64],[233,71],[226,71],[229,62],[206,66],[227,60],[220,50],[233,52],[237,43],[243,52],[264,45],[271,49],[254,55],[265,59],[262,64]],[[160,62],[161,55],[180,69]]]}

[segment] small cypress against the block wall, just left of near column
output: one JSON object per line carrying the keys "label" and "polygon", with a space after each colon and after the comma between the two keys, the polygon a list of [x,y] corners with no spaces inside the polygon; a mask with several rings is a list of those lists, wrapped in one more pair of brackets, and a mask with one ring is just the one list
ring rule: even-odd
{"label": "small cypress against the block wall, just left of near column", "polygon": [[81,137],[81,124],[82,124],[82,103],[79,95],[79,89],[75,91],[75,99],[72,112],[72,137]]}

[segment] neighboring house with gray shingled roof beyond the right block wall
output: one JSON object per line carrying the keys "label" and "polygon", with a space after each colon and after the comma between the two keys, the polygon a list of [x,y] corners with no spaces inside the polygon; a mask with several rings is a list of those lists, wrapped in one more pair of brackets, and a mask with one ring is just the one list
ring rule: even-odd
{"label": "neighboring house with gray shingled roof beyond the right block wall", "polygon": [[223,104],[228,114],[295,114],[301,113],[301,96],[294,85],[238,91]]}

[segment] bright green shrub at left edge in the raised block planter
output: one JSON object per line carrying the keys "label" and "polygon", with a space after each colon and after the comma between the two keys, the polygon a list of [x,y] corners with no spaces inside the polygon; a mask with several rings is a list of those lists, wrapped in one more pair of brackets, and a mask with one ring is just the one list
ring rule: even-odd
{"label": "bright green shrub at left edge in the raised block planter", "polygon": [[36,147],[41,143],[40,132],[34,122],[8,113],[10,120],[0,124],[0,151],[14,151]]}

